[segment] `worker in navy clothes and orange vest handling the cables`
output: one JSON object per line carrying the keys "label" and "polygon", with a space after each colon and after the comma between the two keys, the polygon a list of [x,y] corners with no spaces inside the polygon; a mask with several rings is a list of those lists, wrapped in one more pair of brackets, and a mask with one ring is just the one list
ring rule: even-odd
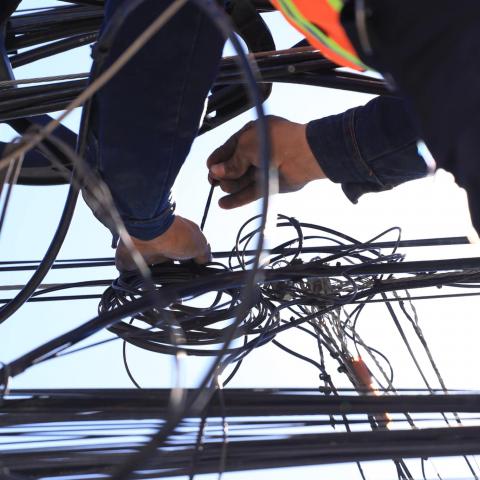
{"label": "worker in navy clothes and orange vest handling the cables", "polygon": [[[106,1],[107,24],[124,1]],[[106,66],[170,3],[171,0],[146,0],[138,7],[117,35]],[[447,80],[430,75],[422,63],[438,73],[444,68],[439,64],[442,55],[452,56],[454,43],[448,43],[450,50],[438,52],[436,44],[428,44],[431,37],[425,28],[430,27],[432,16],[437,19],[447,15],[450,2],[424,0],[419,5],[413,0],[369,0],[368,8],[363,5],[365,2],[353,0],[273,3],[325,56],[356,69],[373,66],[385,74],[402,96],[379,97],[365,106],[305,125],[269,117],[271,162],[278,168],[281,192],[329,178],[341,183],[347,197],[355,202],[365,192],[420,178],[427,174],[417,149],[420,138],[427,141],[440,165],[459,164],[452,158],[461,158],[462,151],[458,152],[460,157],[452,157],[452,148],[463,147],[452,136],[448,136],[447,143],[446,138],[437,134],[432,125],[445,133],[446,121],[432,120],[427,108],[435,99],[438,103],[438,98],[451,106],[451,98],[439,97],[447,92]],[[468,4],[473,5],[467,0],[455,3],[456,8],[468,8]],[[427,12],[430,16],[426,17]],[[455,22],[463,17],[456,11],[448,18],[454,20],[454,26],[443,21],[430,29],[432,36],[439,35],[442,45],[451,38],[444,39],[441,33],[457,32],[460,26]],[[472,33],[473,23],[468,23],[467,32]],[[420,52],[415,49],[417,40]],[[133,243],[147,263],[165,259],[203,263],[209,259],[208,242],[198,226],[175,215],[170,189],[197,134],[223,45],[209,18],[189,3],[96,96],[89,162],[109,186]],[[412,51],[418,55],[408,56]],[[430,58],[429,54],[433,56]],[[461,58],[467,56],[465,53]],[[422,73],[421,78],[417,79],[415,69]],[[456,70],[448,77],[453,73],[462,77]],[[465,80],[455,85],[463,84],[469,83]],[[425,92],[430,87],[434,91]],[[435,105],[433,111],[438,110],[441,107]],[[459,121],[460,127],[465,122]],[[452,126],[454,139],[458,138],[460,127]],[[464,148],[471,152],[468,149],[475,146],[475,138],[470,130],[465,135]],[[227,193],[220,199],[221,207],[235,208],[258,198],[259,161],[253,123],[212,153],[207,161],[209,179]],[[463,171],[460,173],[463,184],[471,186],[465,182]],[[120,270],[135,268],[122,242],[117,247],[116,263]]]}

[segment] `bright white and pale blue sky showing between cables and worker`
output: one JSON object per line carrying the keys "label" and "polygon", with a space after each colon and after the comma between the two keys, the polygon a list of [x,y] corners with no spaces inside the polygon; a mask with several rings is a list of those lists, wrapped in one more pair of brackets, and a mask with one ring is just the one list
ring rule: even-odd
{"label": "bright white and pale blue sky showing between cables and worker", "polygon": [[[23,8],[50,5],[47,0],[24,0]],[[298,40],[294,32],[277,14],[266,16],[275,34],[278,48],[291,46]],[[77,73],[89,70],[89,49],[58,55],[54,60],[37,62],[16,70],[17,78],[27,78],[61,73]],[[371,97],[364,94],[341,92],[324,88],[275,85],[267,102],[268,113],[287,117],[297,122],[307,122],[326,115],[340,113],[356,105],[364,104]],[[80,112],[75,112],[66,124],[76,129]],[[174,187],[177,211],[199,222],[203,213],[209,185],[205,161],[209,153],[223,143],[249,119],[248,112],[228,124],[215,129],[199,139],[178,177]],[[12,138],[12,131],[0,125],[0,140]],[[51,240],[59,220],[67,188],[60,187],[16,187],[6,225],[0,235],[0,260],[40,259]],[[216,192],[218,199],[219,193]],[[352,205],[343,195],[341,188],[328,180],[315,182],[300,192],[282,195],[274,200],[278,212],[292,215],[299,220],[309,221],[337,229],[360,240],[366,241],[377,233],[398,225],[402,227],[402,238],[427,238],[459,236],[469,234],[466,197],[454,183],[451,175],[439,171],[436,175],[410,182],[393,191],[368,194],[357,205]],[[213,204],[206,226],[206,235],[213,250],[227,250],[233,246],[239,226],[250,216],[258,213],[258,202],[236,211],[221,211]],[[393,237],[392,237],[393,239]],[[476,256],[477,245],[408,250],[407,260],[425,258],[454,258]],[[80,200],[72,227],[59,258],[85,258],[112,256],[109,233],[91,215]],[[104,268],[85,271],[56,271],[48,275],[46,282],[73,281],[92,278],[113,278],[116,271]],[[28,273],[3,274],[2,284],[19,284],[26,281]],[[4,295],[6,296],[6,294]],[[426,339],[450,388],[478,388],[479,380],[474,371],[478,359],[479,327],[476,299],[448,299],[419,301],[416,307]],[[40,343],[95,316],[97,302],[56,302],[25,305],[5,324],[0,326],[0,360],[8,362]],[[388,352],[394,364],[396,385],[400,387],[420,386],[394,331],[386,309],[382,305],[366,309],[361,321],[361,332],[372,346]],[[102,333],[95,339],[108,337]],[[92,341],[90,339],[89,341]],[[315,345],[300,335],[288,333],[282,339],[299,351],[316,355]],[[418,346],[417,346],[418,348]],[[318,355],[318,352],[317,352]],[[141,385],[166,387],[171,384],[171,360],[158,355],[128,347],[131,369]],[[204,371],[205,362],[185,362],[185,382],[195,385]],[[339,385],[347,385],[340,375]],[[316,387],[318,372],[311,366],[279,352],[274,346],[266,346],[253,352],[245,361],[232,387]],[[88,350],[65,359],[53,360],[34,367],[16,378],[14,388],[108,388],[130,387],[121,360],[121,343]],[[464,466],[454,460],[439,461],[446,476],[466,476]],[[394,476],[389,466],[369,465],[368,478]],[[350,471],[349,478],[357,478]],[[291,471],[275,472],[275,478],[290,478]],[[319,475],[322,479],[345,475],[344,467],[312,467],[298,469],[300,478]],[[433,474],[432,474],[433,475]],[[241,478],[240,474],[228,475]],[[259,474],[258,478],[269,478]]]}

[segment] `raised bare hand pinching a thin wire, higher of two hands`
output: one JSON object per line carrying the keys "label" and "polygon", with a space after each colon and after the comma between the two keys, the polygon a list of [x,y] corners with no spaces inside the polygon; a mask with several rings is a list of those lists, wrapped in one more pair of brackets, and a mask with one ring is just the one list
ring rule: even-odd
{"label": "raised bare hand pinching a thin wire, higher of two hands", "polygon": [[[271,162],[278,169],[280,192],[300,190],[308,182],[326,178],[306,138],[306,125],[268,116],[272,144]],[[228,193],[222,208],[236,208],[260,198],[259,138],[256,122],[250,122],[217,148],[207,160],[211,184]]]}

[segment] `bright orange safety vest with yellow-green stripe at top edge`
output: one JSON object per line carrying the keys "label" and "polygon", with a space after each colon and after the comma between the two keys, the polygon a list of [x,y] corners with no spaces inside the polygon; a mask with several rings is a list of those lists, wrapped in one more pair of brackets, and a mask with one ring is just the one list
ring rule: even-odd
{"label": "bright orange safety vest with yellow-green stripe at top edge", "polygon": [[365,70],[340,23],[344,0],[270,0],[323,56],[343,67]]}

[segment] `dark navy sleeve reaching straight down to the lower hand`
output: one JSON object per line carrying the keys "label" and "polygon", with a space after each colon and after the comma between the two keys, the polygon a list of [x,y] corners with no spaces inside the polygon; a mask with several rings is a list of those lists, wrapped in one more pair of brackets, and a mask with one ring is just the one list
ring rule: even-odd
{"label": "dark navy sleeve reaching straight down to the lower hand", "polygon": [[[107,23],[125,2],[106,2]],[[146,0],[117,35],[106,66],[171,3]],[[95,162],[136,238],[155,238],[173,221],[170,188],[197,134],[223,44],[189,2],[96,97]]]}

